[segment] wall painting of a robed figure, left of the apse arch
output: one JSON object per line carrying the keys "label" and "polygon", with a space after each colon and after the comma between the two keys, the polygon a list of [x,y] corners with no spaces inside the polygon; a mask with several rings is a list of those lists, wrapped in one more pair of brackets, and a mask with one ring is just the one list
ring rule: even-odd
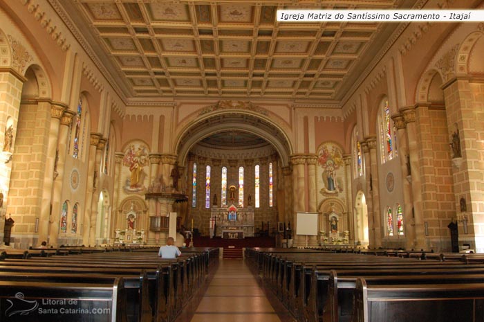
{"label": "wall painting of a robed figure, left of the apse arch", "polygon": [[147,177],[147,166],[149,165],[149,150],[142,142],[134,141],[124,150],[122,159],[123,190],[129,194],[140,194],[146,190],[145,179]]}

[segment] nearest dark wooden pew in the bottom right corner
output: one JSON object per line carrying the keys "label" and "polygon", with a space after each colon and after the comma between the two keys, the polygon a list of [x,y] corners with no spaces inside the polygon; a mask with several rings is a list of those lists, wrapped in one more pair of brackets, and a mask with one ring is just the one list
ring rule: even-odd
{"label": "nearest dark wooden pew in the bottom right corner", "polygon": [[353,322],[484,321],[484,283],[368,285],[357,278]]}

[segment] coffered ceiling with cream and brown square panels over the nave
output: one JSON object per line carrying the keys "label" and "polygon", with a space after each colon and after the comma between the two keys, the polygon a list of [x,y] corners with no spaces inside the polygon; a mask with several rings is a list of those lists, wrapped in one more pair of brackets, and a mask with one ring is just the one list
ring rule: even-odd
{"label": "coffered ceiling with cream and brown square panels over the nave", "polygon": [[[50,0],[53,1],[53,0]],[[64,0],[122,98],[337,103],[398,24],[278,22],[278,9],[411,8],[415,0]]]}

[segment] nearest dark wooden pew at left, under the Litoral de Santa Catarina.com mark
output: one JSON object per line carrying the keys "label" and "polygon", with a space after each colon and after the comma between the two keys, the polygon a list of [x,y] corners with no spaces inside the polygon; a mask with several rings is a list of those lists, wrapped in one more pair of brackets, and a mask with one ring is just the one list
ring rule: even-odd
{"label": "nearest dark wooden pew at left, under the Litoral de Santa Catarina.com mark", "polygon": [[[91,282],[94,282],[91,280]],[[0,314],[8,321],[127,322],[122,278],[101,283],[0,280]],[[2,321],[3,321],[2,319]]]}

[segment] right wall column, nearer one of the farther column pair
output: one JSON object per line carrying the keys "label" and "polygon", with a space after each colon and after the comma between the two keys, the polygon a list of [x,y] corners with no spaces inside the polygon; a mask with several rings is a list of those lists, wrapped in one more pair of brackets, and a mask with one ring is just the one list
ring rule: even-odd
{"label": "right wall column, nearer one of the farther column pair", "polygon": [[370,149],[371,187],[373,201],[373,222],[375,224],[375,247],[382,246],[382,214],[380,213],[380,189],[378,188],[378,156],[376,153],[376,138],[367,138],[366,143]]}

